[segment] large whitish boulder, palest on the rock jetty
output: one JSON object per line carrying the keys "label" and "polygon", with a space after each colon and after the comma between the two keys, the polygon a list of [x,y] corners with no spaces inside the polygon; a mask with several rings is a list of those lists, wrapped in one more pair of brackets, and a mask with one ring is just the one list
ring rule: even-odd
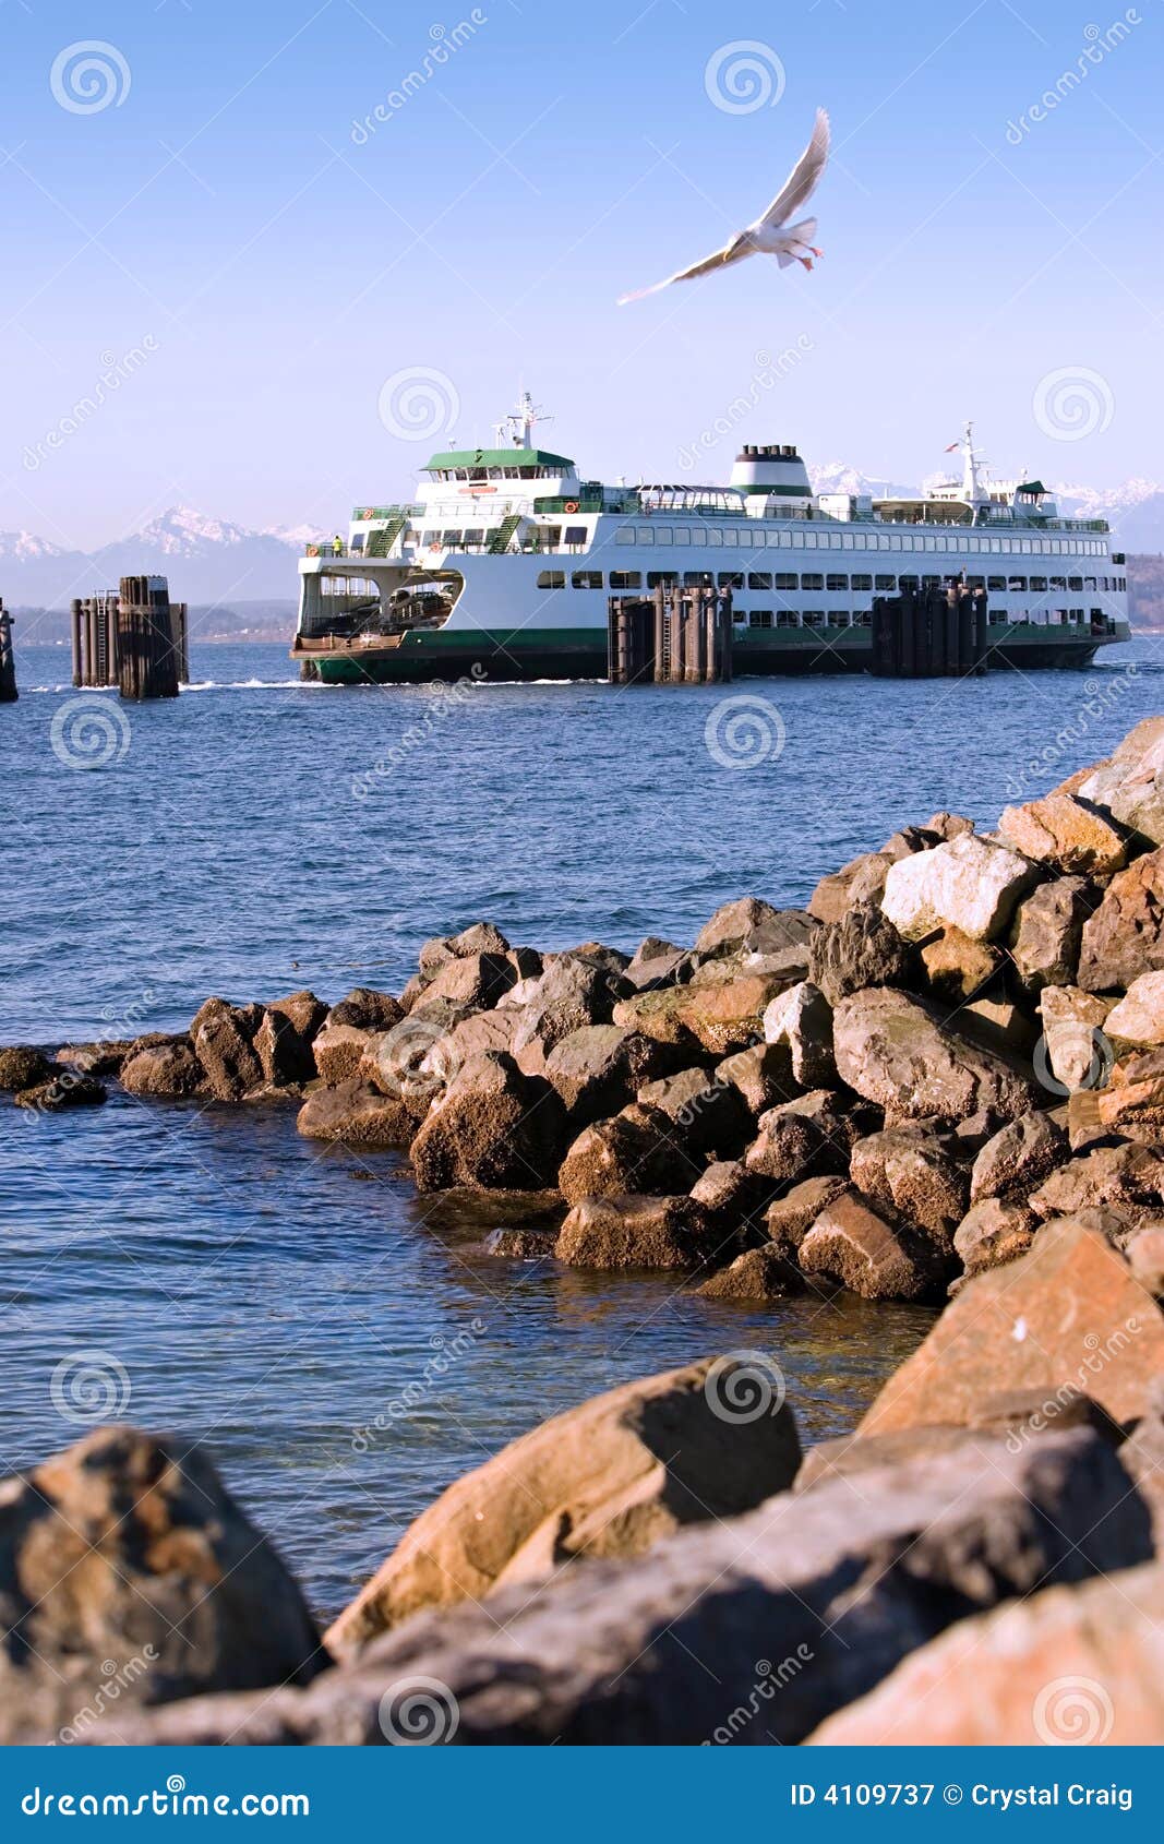
{"label": "large whitish boulder, palest on the rock jetty", "polygon": [[908,940],[937,928],[998,940],[1037,880],[1029,859],[967,832],[891,865],[882,909]]}

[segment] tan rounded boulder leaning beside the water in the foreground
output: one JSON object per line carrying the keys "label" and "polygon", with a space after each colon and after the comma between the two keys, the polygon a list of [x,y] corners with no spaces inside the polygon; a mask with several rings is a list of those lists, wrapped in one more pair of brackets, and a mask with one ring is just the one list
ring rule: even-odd
{"label": "tan rounded boulder leaning beside the water in the foreground", "polygon": [[767,1413],[730,1414],[766,1381],[734,1357],[708,1357],[542,1422],[410,1525],[328,1647],[350,1652],[424,1608],[480,1602],[581,1556],[640,1556],[681,1525],[736,1518],[788,1490],[801,1442],[771,1381]]}

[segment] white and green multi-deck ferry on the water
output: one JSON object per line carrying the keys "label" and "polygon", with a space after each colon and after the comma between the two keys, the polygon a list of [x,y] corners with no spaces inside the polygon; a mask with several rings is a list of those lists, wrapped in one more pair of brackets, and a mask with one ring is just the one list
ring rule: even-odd
{"label": "white and green multi-deck ferry on the water", "polygon": [[607,597],[732,590],[740,675],[871,662],[874,596],[985,588],[991,666],[1088,666],[1129,638],[1123,553],[1039,479],[994,481],[967,424],[959,478],[917,498],[814,494],[793,446],[745,446],[727,485],[583,479],[535,439],[526,393],[494,448],[434,454],[411,505],[360,505],[299,561],[291,658],[328,682],[603,679]]}

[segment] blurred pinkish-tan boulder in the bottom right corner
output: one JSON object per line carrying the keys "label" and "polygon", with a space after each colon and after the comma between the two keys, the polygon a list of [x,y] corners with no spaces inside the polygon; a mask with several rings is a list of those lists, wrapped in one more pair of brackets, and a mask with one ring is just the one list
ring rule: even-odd
{"label": "blurred pinkish-tan boulder in the bottom right corner", "polygon": [[1158,1748],[1162,1630],[1158,1562],[1079,1588],[1046,1588],[950,1626],[808,1743]]}

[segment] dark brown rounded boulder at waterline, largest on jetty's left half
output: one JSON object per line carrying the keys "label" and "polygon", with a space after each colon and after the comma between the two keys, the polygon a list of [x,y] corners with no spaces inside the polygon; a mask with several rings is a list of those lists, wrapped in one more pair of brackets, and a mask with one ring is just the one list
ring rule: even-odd
{"label": "dark brown rounded boulder at waterline, largest on jetty's left half", "polygon": [[421,1191],[483,1186],[540,1191],[553,1184],[566,1110],[540,1077],[483,1051],[454,1075],[411,1143]]}

